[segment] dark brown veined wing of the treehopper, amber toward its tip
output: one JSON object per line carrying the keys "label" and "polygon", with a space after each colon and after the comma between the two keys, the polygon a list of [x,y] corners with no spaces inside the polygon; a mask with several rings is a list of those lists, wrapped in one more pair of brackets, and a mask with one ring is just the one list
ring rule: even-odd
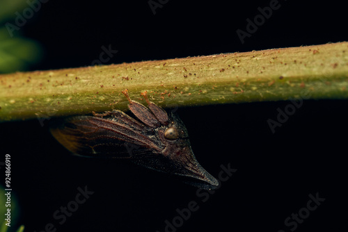
{"label": "dark brown veined wing of the treehopper, amber toward its tip", "polygon": [[81,156],[100,154],[130,158],[139,153],[161,152],[163,148],[157,142],[155,135],[150,135],[146,127],[141,131],[139,125],[130,126],[133,125],[128,122],[130,117],[122,116],[121,119],[93,116],[68,117],[52,124],[50,131],[65,148]]}

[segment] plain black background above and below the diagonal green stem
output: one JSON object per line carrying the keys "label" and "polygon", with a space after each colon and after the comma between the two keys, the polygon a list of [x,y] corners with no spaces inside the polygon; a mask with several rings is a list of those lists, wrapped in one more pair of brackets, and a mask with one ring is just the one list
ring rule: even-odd
{"label": "plain black background above and below the diagonal green stem", "polygon": [[[21,33],[45,58],[32,69],[91,65],[101,47],[109,63],[325,44],[347,40],[343,1],[279,1],[280,8],[242,44],[236,30],[269,1],[171,0],[156,15],[148,1],[55,1]],[[11,154],[13,190],[25,231],[165,231],[176,208],[198,202],[177,231],[290,231],[284,220],[325,198],[296,231],[347,231],[347,101],[308,100],[276,133],[267,119],[288,101],[179,108],[198,161],[214,176],[237,172],[209,200],[196,188],[129,163],[71,156],[38,120],[1,124],[1,153]],[[2,181],[2,180],[1,180]],[[95,193],[60,225],[54,211],[77,188]]]}

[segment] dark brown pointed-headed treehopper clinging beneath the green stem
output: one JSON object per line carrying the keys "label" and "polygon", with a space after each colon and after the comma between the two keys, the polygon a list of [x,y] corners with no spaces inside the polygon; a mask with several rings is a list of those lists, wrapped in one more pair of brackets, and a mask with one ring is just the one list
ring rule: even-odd
{"label": "dark brown pointed-headed treehopper clinging beneath the green stem", "polygon": [[149,101],[148,108],[132,101],[128,91],[122,91],[129,101],[129,110],[137,121],[120,110],[94,116],[63,119],[51,127],[51,133],[65,148],[80,156],[111,156],[159,172],[181,176],[182,181],[199,188],[214,189],[219,182],[197,162],[189,135],[182,121],[173,112]]}

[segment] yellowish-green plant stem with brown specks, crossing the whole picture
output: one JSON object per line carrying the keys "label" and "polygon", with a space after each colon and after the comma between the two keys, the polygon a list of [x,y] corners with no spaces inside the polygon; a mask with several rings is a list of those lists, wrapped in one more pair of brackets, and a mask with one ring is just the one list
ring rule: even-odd
{"label": "yellowish-green plant stem with brown specks, crossing the whole picture", "polygon": [[127,109],[347,99],[348,42],[0,75],[0,122]]}

